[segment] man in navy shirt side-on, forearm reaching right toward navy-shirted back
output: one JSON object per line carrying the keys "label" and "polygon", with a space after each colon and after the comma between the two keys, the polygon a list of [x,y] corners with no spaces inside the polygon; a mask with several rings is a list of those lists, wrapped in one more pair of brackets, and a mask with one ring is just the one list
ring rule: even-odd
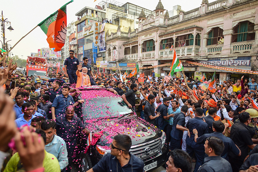
{"label": "man in navy shirt side-on, forearm reaching right toward navy-shirted back", "polygon": [[181,139],[183,138],[183,131],[188,131],[189,129],[185,128],[185,114],[188,111],[187,106],[182,106],[181,112],[175,114],[173,120],[172,130],[170,132],[170,150],[181,149]]}

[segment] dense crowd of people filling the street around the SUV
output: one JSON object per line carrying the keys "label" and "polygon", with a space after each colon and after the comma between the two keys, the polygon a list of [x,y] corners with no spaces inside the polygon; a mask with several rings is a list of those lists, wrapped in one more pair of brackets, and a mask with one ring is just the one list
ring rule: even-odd
{"label": "dense crowd of people filling the street around the SUV", "polygon": [[[78,96],[82,86],[118,94],[139,118],[166,133],[167,172],[190,172],[192,163],[194,172],[258,171],[256,78],[218,82],[215,92],[202,90],[198,78],[189,78],[190,88],[183,75],[144,77],[140,83],[135,76],[121,80],[117,73],[93,72],[88,58],[79,64],[73,55],[71,50],[64,71],[49,73],[51,79],[25,77],[12,60],[0,69],[3,171],[71,171],[78,132],[92,132],[74,113],[84,102]],[[89,171],[144,171],[131,145],[129,136],[115,136],[111,153]]]}

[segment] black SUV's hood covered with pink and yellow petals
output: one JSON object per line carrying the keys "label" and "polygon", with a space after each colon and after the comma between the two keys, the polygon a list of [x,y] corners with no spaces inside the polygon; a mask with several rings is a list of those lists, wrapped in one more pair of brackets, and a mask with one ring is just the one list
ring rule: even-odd
{"label": "black SUV's hood covered with pink and yellow petals", "polygon": [[162,132],[156,126],[145,120],[132,115],[129,117],[102,119],[97,122],[86,120],[89,130],[96,132],[103,131],[97,144],[101,146],[109,145],[113,137],[117,134],[126,134],[132,138],[132,145],[141,144],[161,137]]}

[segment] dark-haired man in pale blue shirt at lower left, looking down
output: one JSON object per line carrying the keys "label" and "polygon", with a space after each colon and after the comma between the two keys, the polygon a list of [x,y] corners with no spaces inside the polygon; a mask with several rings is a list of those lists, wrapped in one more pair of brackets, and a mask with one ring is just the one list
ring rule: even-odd
{"label": "dark-haired man in pale blue shirt at lower left, looking down", "polygon": [[57,158],[60,169],[64,169],[68,165],[68,153],[65,141],[56,135],[55,121],[48,119],[41,124],[41,129],[46,133],[45,150],[48,153],[55,155]]}

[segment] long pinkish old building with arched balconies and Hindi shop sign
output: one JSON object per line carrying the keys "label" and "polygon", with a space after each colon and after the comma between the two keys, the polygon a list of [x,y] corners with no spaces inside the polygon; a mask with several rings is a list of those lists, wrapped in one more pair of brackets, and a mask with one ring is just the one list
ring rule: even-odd
{"label": "long pinkish old building with arched balconies and Hindi shop sign", "polygon": [[[194,76],[196,71],[205,72],[208,77],[216,71],[217,78],[221,80],[234,80],[242,74],[192,65],[186,61],[257,70],[257,0],[217,0],[211,3],[203,0],[200,7],[180,11],[172,17],[159,1],[154,12],[146,15],[142,11],[134,32],[118,30],[107,35],[107,49],[112,44],[120,50],[116,52],[117,60],[135,62],[139,67],[162,65],[172,62],[175,49],[188,77]],[[217,45],[221,36],[224,43]],[[112,48],[109,55],[113,55]],[[170,66],[142,69],[145,75],[152,70],[158,75],[167,75]]]}

